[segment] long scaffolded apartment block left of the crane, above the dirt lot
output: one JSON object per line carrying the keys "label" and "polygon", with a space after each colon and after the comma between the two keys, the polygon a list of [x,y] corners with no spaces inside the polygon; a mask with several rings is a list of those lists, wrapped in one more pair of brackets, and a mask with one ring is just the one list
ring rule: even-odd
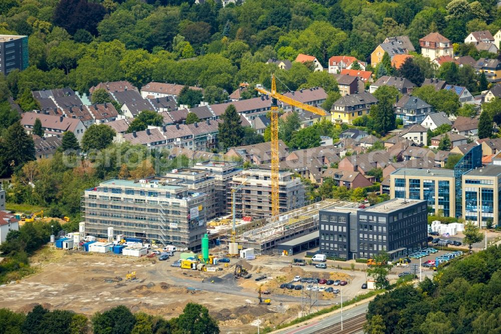
{"label": "long scaffolded apartment block left of the crane, above the dirt lot", "polygon": [[97,237],[106,238],[113,227],[115,235],[198,250],[207,231],[208,196],[156,177],[114,179],[85,191],[82,216],[86,232]]}

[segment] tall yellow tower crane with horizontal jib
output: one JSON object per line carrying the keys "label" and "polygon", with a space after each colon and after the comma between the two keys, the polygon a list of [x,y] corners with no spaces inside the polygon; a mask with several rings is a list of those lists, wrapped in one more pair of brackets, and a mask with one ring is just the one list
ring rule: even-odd
{"label": "tall yellow tower crane with horizontal jib", "polygon": [[292,106],[313,112],[317,115],[328,116],[326,111],[312,105],[296,101],[290,97],[277,93],[277,84],[275,82],[275,74],[272,74],[272,89],[271,91],[261,87],[256,90],[262,94],[266,94],[272,98],[271,118],[271,152],[272,152],[272,221],[275,221],[280,214],[279,206],[279,116],[278,116],[278,101],[285,102]]}

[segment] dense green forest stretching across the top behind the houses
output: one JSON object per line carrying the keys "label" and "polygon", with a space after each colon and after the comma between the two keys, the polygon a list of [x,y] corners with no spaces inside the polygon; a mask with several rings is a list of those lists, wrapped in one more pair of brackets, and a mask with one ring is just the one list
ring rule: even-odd
{"label": "dense green forest stretching across the top behind the houses", "polygon": [[[387,36],[418,39],[438,31],[461,54],[471,31],[501,27],[495,0],[248,1],[222,8],[219,1],[4,0],[0,33],[29,36],[30,64],[7,80],[15,98],[26,89],[70,86],[79,92],[127,79],[139,88],[154,80],[234,90],[238,83],[269,82],[272,57],[333,55],[367,60]],[[419,51],[419,50],[418,50]],[[415,61],[425,76],[429,61]],[[278,71],[282,89],[323,86],[325,76],[302,64]],[[5,80],[0,80],[5,87]],[[282,85],[281,83],[281,85]],[[419,84],[419,83],[417,83]]]}

